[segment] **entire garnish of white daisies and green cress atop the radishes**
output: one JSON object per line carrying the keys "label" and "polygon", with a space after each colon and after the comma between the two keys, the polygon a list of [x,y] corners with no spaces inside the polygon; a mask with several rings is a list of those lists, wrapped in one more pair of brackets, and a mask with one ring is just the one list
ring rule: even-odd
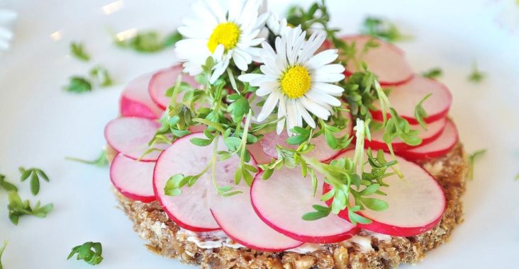
{"label": "entire garnish of white daisies and green cress atop the radishes", "polygon": [[[286,143],[296,149],[277,145],[277,159],[259,165],[264,171],[262,178],[268,180],[277,169],[286,166],[301,170],[308,184],[313,185],[314,195],[321,195],[316,173],[323,174],[331,188],[321,198],[333,198],[330,207],[315,205],[316,211],[305,214],[303,219],[319,219],[347,209],[353,224],[370,223],[355,212],[364,208],[385,210],[388,205],[383,199],[367,196],[376,193],[383,198],[379,187],[386,186],[384,178],[401,173],[397,162],[384,159],[382,151],[365,150],[364,139],[371,139],[370,128],[384,128],[384,142],[392,156],[391,142],[397,137],[413,146],[420,144],[421,139],[418,130],[411,130],[409,122],[391,108],[386,96],[389,91],[381,88],[369,66],[362,62],[362,55],[377,43],[366,42],[358,52],[355,43],[348,44],[337,37],[339,30],[328,25],[330,16],[324,1],[308,10],[291,8],[288,18],[281,19],[257,0],[236,1],[225,10],[216,1],[199,1],[194,4],[194,15],[184,19],[184,25],[179,27],[184,39],[177,42],[176,51],[184,62],[184,71],[201,86],[194,88],[179,77],[177,84],[169,88],[166,94],[171,102],[160,118],[162,126],[150,141],[147,153],[158,150],[153,148],[155,144],[172,143],[196,128],[203,130],[205,138],[191,139],[191,143],[194,147],[211,146],[213,154],[199,174],[169,178],[164,193],[181,194],[182,188],[196,184],[207,171],[211,171],[221,195],[241,193],[232,185],[216,183],[217,162],[239,156],[234,183],[245,181],[251,185],[257,168],[248,164],[251,156],[247,145],[275,131],[277,135],[287,132]],[[335,48],[318,52],[325,40]],[[346,62],[356,64],[362,71],[345,78],[342,73]],[[383,115],[378,125],[372,125],[369,112],[375,102],[379,102]],[[262,108],[258,115],[253,112],[253,105]],[[421,102],[416,111],[417,119],[426,116]],[[352,113],[354,135],[339,135],[350,120],[345,113]],[[426,127],[425,122],[420,124]],[[228,150],[217,150],[216,138],[220,136]],[[308,153],[316,148],[313,141],[320,136],[326,141],[320,147],[336,151],[346,149],[355,139],[354,156],[329,163],[309,157]]]}

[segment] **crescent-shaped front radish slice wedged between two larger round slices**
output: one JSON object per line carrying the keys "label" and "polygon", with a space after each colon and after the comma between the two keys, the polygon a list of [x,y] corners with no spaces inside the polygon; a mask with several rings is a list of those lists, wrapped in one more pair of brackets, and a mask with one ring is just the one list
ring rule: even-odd
{"label": "crescent-shaped front radish slice wedged between two larger round slices", "polygon": [[[223,179],[223,178],[222,178]],[[220,181],[220,185],[232,185],[242,193],[230,197],[211,193],[211,212],[221,229],[230,239],[257,251],[285,251],[303,244],[275,231],[265,224],[252,208],[250,187],[243,181],[236,186],[233,177]]]}

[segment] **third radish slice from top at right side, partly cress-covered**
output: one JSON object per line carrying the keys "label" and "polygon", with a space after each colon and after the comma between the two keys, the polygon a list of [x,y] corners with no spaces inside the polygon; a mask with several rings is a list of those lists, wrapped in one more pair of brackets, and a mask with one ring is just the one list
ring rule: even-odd
{"label": "third radish slice from top at right side, partly cress-covered", "polygon": [[[435,141],[440,135],[442,135],[445,126],[447,125],[447,118],[442,118],[441,120],[437,120],[427,125],[427,130],[423,130],[420,125],[411,125],[411,130],[420,131],[420,137],[422,139],[422,144],[420,146],[430,144]],[[372,132],[372,141],[365,141],[365,147],[370,147],[372,149],[384,149],[388,151],[388,147],[383,139],[384,129],[376,130]],[[408,149],[412,149],[413,146],[410,146],[403,142],[400,138],[396,138],[392,143],[393,149],[395,151],[404,151]]]}

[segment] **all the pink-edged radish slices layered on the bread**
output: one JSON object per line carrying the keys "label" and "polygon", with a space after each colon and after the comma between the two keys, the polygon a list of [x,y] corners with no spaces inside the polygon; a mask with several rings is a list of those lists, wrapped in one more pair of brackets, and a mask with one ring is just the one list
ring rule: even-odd
{"label": "all the pink-edged radish slices layered on the bread", "polygon": [[[356,35],[345,40],[355,41],[362,47],[368,38]],[[132,200],[157,200],[168,216],[184,229],[196,232],[223,230],[237,243],[260,251],[284,251],[303,243],[335,243],[349,239],[360,229],[391,236],[413,236],[432,229],[445,211],[445,196],[435,178],[416,163],[443,156],[457,144],[456,126],[447,118],[452,96],[440,82],[413,74],[398,47],[381,40],[376,42],[379,42],[379,47],[369,50],[363,59],[382,85],[393,88],[389,95],[391,105],[411,123],[413,129],[420,130],[423,144],[411,147],[399,140],[393,143],[405,178],[386,178],[390,186],[381,190],[387,194],[384,200],[389,203],[388,210],[359,212],[372,219],[372,224],[354,226],[348,222],[347,212],[305,221],[301,217],[312,210],[312,205],[325,205],[320,201],[320,195],[313,196],[309,178],[302,178],[298,169],[283,168],[275,171],[268,181],[261,179],[260,171],[252,187],[243,182],[236,186],[233,184],[239,163],[236,156],[216,163],[216,178],[212,178],[209,169],[196,184],[184,187],[182,194],[174,197],[164,195],[164,186],[171,176],[178,173],[194,175],[203,171],[211,162],[213,150],[212,147],[191,144],[191,138],[203,137],[194,132],[173,144],[155,145],[155,151],[145,154],[149,151],[147,143],[160,126],[157,118],[169,103],[164,93],[181,74],[179,66],[139,76],[123,91],[121,118],[108,122],[105,129],[106,141],[118,152],[110,168],[113,185]],[[346,74],[355,71],[348,65]],[[196,86],[191,77],[183,75],[182,79]],[[428,113],[425,118],[428,129],[423,130],[414,118],[414,108],[428,93],[432,96],[423,103]],[[372,115],[375,120],[382,120],[379,110],[372,111]],[[351,115],[347,116],[351,118]],[[348,132],[352,132],[351,126],[341,135]],[[366,146],[387,150],[382,135],[382,132],[373,132],[372,140],[367,141]],[[285,140],[285,134],[265,135],[260,142],[249,147],[253,156],[250,165],[257,166],[277,158],[277,144],[290,147]],[[352,155],[352,150],[330,149],[323,136],[314,143],[317,147],[311,154],[320,161]],[[225,145],[220,141],[218,147],[224,149]],[[318,181],[324,186],[323,191],[328,190],[322,176],[318,175]],[[233,186],[242,193],[224,198],[216,193],[215,183]]]}

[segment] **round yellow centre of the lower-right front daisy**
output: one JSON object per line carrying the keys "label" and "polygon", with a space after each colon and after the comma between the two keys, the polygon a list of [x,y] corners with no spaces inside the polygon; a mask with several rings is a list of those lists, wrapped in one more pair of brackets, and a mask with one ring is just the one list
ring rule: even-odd
{"label": "round yellow centre of the lower-right front daisy", "polygon": [[311,82],[308,69],[296,65],[290,67],[281,76],[281,91],[290,98],[299,98],[310,89]]}

